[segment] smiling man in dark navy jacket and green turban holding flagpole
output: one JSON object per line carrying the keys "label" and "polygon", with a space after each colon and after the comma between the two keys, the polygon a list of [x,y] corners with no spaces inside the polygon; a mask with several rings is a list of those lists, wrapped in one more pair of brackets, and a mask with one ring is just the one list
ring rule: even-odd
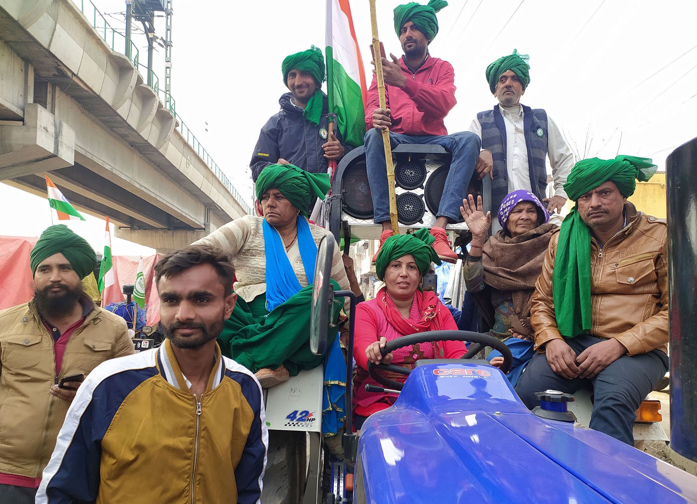
{"label": "smiling man in dark navy jacket and green turban holding flagpole", "polygon": [[326,173],[330,160],[339,160],[346,149],[339,132],[329,133],[327,97],[322,92],[324,58],[320,49],[291,54],[283,60],[284,84],[281,109],[261,128],[250,162],[252,179],[268,165],[296,165],[310,173]]}

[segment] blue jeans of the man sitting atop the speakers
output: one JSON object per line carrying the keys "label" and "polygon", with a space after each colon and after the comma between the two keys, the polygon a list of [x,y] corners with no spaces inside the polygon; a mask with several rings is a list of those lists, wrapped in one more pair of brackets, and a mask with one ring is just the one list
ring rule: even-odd
{"label": "blue jeans of the man sitting atop the speakers", "polygon": [[[376,224],[390,220],[390,197],[388,175],[385,165],[385,148],[380,130],[370,128],[365,134],[365,164],[368,171],[370,192],[373,196],[373,221]],[[411,137],[390,132],[392,148],[399,144],[440,145],[452,155],[450,171],[445,179],[443,197],[438,205],[436,217],[447,217],[452,222],[460,218],[460,206],[466,197],[475,165],[480,154],[482,141],[474,133],[463,131],[444,137]]]}

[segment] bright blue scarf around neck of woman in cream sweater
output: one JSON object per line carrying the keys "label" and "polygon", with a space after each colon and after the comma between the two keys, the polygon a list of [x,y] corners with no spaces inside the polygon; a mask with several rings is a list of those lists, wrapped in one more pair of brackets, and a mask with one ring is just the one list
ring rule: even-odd
{"label": "bright blue scarf around neck of woman in cream sweater", "polygon": [[[309,230],[309,222],[298,215],[298,247],[305,268],[307,284],[312,284],[314,265],[317,261],[317,245]],[[266,254],[266,310],[269,312],[297,294],[302,286],[288,260],[281,235],[266,219],[263,221],[264,253]],[[275,259],[275,260],[273,260]]]}

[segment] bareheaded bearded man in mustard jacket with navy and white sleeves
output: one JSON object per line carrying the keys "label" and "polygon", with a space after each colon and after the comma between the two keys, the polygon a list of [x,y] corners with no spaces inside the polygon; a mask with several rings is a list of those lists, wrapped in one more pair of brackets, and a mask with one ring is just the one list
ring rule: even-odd
{"label": "bareheaded bearded man in mustard jacket with navy and white sleeves", "polygon": [[229,256],[188,245],[155,266],[164,344],[88,376],[37,503],[258,503],[268,432],[254,374],[217,336],[235,306]]}

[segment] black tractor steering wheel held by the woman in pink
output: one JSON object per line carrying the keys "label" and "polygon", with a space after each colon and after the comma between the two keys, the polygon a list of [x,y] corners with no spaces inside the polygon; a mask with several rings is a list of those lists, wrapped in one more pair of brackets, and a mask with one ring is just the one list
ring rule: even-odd
{"label": "black tractor steering wheel held by the woman in pink", "polygon": [[[513,362],[513,356],[511,350],[506,346],[504,342],[500,339],[493,337],[484,333],[473,333],[468,330],[431,330],[424,333],[414,333],[407,336],[402,336],[397,339],[392,339],[392,341],[387,342],[383,349],[380,349],[381,355],[384,357],[388,353],[401,349],[404,346],[410,346],[417,343],[432,343],[439,341],[459,341],[459,342],[473,342],[470,346],[470,350],[462,356],[463,359],[473,358],[482,348],[486,346],[491,346],[492,349],[500,351],[503,353],[503,364],[499,368],[504,373],[508,372]],[[397,374],[403,374],[404,376],[409,376],[411,369],[406,367],[401,367],[393,364],[373,364],[368,361],[368,372],[373,379],[383,385],[385,388],[391,388],[393,390],[401,390],[404,387],[404,383],[399,383],[399,381],[390,380],[385,378],[380,374],[379,370],[391,371]]]}

